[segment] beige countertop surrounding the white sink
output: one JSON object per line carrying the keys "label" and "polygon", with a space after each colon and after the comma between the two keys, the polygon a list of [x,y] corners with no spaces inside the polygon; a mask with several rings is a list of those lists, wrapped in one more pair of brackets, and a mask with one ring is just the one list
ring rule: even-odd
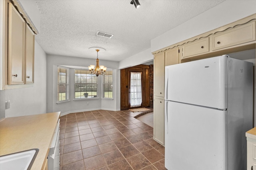
{"label": "beige countertop surrounding the white sink", "polygon": [[60,112],[54,112],[4,119],[0,122],[0,156],[37,148],[31,170],[42,169],[59,117]]}

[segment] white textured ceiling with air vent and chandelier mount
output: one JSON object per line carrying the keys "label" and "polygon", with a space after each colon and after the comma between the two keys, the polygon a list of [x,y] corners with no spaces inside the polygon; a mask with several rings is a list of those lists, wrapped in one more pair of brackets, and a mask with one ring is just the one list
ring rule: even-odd
{"label": "white textured ceiling with air vent and chandelier mount", "polygon": [[[150,40],[224,0],[35,0],[41,14],[36,41],[47,54],[121,61],[150,48]],[[188,28],[189,29],[189,28]],[[96,36],[97,31],[114,34]]]}

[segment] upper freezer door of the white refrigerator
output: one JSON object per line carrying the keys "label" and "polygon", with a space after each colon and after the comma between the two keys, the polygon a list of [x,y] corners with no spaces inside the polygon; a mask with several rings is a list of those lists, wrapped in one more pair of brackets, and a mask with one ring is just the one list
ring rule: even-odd
{"label": "upper freezer door of the white refrigerator", "polygon": [[165,67],[165,99],[218,109],[227,108],[227,57]]}

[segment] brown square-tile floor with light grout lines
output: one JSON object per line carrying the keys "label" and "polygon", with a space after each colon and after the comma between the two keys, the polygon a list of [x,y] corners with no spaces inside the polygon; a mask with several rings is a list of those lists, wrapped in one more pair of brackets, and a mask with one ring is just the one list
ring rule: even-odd
{"label": "brown square-tile floor with light grout lines", "polygon": [[62,170],[166,170],[153,128],[124,111],[84,111],[60,117]]}

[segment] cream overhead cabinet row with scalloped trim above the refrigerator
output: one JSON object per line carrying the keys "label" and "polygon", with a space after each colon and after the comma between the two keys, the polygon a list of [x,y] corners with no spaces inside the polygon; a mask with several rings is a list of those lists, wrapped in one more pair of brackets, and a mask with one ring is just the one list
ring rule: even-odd
{"label": "cream overhead cabinet row with scalloped trim above the refrigerator", "polygon": [[[179,48],[178,63],[184,63],[255,49],[255,43],[256,14],[253,14],[241,20],[164,47],[152,52],[152,54],[156,55],[165,51],[166,56],[168,56],[169,50],[171,53],[172,49]],[[171,59],[169,59],[168,57],[165,58],[165,66],[172,64]]]}

